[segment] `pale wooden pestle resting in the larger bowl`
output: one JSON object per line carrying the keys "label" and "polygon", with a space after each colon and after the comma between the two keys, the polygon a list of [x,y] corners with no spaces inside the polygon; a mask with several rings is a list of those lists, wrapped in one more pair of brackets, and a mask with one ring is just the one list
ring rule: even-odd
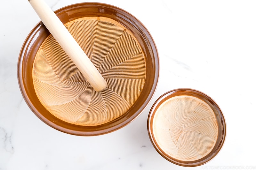
{"label": "pale wooden pestle resting in the larger bowl", "polygon": [[28,2],[34,8],[52,36],[60,44],[61,48],[63,48],[78,70],[80,70],[90,85],[92,85],[93,89],[96,92],[104,90],[107,87],[107,82],[52,9],[44,0],[28,0]]}

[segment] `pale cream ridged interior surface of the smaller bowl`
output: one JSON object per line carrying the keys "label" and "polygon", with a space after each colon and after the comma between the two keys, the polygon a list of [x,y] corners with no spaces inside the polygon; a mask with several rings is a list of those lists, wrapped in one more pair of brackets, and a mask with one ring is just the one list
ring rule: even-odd
{"label": "pale cream ridged interior surface of the smaller bowl", "polygon": [[181,161],[194,161],[212,151],[218,125],[211,107],[193,96],[175,96],[156,110],[153,134],[159,147]]}

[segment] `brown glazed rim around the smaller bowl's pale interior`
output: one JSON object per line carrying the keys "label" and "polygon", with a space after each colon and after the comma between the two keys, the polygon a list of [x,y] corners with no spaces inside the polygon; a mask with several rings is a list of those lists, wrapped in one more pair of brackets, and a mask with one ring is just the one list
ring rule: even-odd
{"label": "brown glazed rim around the smaller bowl's pale interior", "polygon": [[[181,161],[181,160],[174,159],[174,158],[170,157],[157,144],[156,139],[153,134],[153,119],[154,119],[154,115],[156,113],[157,108],[164,101],[170,99],[171,97],[180,96],[180,95],[190,95],[190,96],[197,97],[201,100],[204,100],[204,102],[206,102],[213,109],[215,115],[218,114],[216,116],[217,122],[218,122],[218,137],[217,137],[217,142],[216,142],[215,146],[213,147],[212,151],[209,154],[207,154],[205,157],[198,159],[198,160],[194,160],[194,161]],[[189,89],[189,88],[180,88],[180,89],[174,89],[174,90],[164,93],[153,104],[153,106],[151,107],[151,110],[149,112],[149,115],[148,115],[148,135],[149,135],[150,141],[153,144],[156,151],[162,157],[167,159],[168,161],[170,161],[176,165],[180,165],[180,166],[187,166],[187,167],[200,166],[200,165],[207,163],[213,157],[215,157],[215,155],[220,151],[221,147],[223,146],[225,137],[226,137],[226,122],[225,122],[224,115],[222,114],[222,112],[220,110],[220,107],[217,105],[217,103],[214,100],[212,100],[211,97],[209,97],[208,95],[206,95],[203,92],[200,92],[198,90]]]}

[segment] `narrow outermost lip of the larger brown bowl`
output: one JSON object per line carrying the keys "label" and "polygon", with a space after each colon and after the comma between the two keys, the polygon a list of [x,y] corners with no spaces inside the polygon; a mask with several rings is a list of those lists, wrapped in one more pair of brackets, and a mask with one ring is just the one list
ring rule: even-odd
{"label": "narrow outermost lip of the larger brown bowl", "polygon": [[[101,8],[101,7],[105,7],[105,8],[111,8],[113,10],[116,11],[121,11],[123,12],[122,15],[125,14],[125,17],[129,18],[133,24],[135,24],[136,26],[138,26],[141,30],[143,30],[143,33],[145,33],[145,35],[147,36],[148,42],[150,44],[150,46],[152,47],[152,53],[154,54],[154,56],[152,58],[154,58],[154,66],[155,66],[155,75],[154,75],[154,84],[152,85],[152,90],[149,92],[149,96],[147,97],[147,100],[145,100],[145,103],[143,103],[143,106],[141,106],[141,108],[139,108],[139,113],[133,114],[131,117],[129,117],[128,119],[126,119],[125,121],[116,124],[112,127],[108,127],[107,129],[102,129],[101,125],[99,125],[99,129],[95,130],[95,131],[83,131],[83,130],[76,130],[76,129],[68,129],[65,126],[59,126],[58,124],[49,121],[47,118],[45,118],[38,110],[37,108],[32,104],[33,99],[29,98],[28,92],[26,91],[26,87],[24,85],[24,79],[23,79],[23,61],[24,61],[24,56],[27,53],[27,49],[32,41],[32,39],[34,38],[34,36],[36,36],[36,32],[39,30],[39,28],[41,26],[44,26],[42,21],[40,21],[28,34],[27,38],[25,39],[22,48],[20,50],[20,54],[19,54],[19,58],[18,58],[18,64],[17,64],[17,77],[18,77],[18,84],[20,87],[20,92],[23,96],[23,99],[25,100],[25,102],[27,103],[28,107],[30,108],[30,110],[44,123],[46,123],[47,125],[51,126],[54,129],[57,129],[59,131],[62,131],[64,133],[68,133],[68,134],[72,134],[72,135],[78,135],[78,136],[96,136],[96,135],[102,135],[102,134],[107,134],[110,132],[113,132],[117,129],[121,129],[122,127],[126,126],[127,124],[129,124],[130,122],[132,122],[133,120],[135,120],[148,106],[148,104],[150,103],[150,101],[152,100],[155,92],[156,92],[156,88],[157,88],[157,83],[158,83],[158,79],[159,79],[159,56],[158,56],[158,52],[157,52],[157,48],[156,48],[156,44],[155,41],[153,40],[151,34],[148,32],[148,29],[137,19],[135,18],[132,14],[130,14],[129,12],[110,5],[110,4],[104,4],[104,3],[94,3],[94,2],[84,2],[84,3],[77,3],[77,4],[71,4],[65,7],[62,7],[55,12],[55,14],[58,16],[61,12],[63,11],[68,11],[68,10],[72,10],[74,8],[79,8],[79,7],[84,7],[84,8],[89,8],[89,6],[93,6],[93,7],[97,7],[97,8]],[[153,76],[152,76],[153,77]],[[31,87],[33,88],[33,87]],[[118,119],[118,118],[117,118]],[[100,129],[101,128],[101,129]],[[81,129],[81,128],[80,128]]]}

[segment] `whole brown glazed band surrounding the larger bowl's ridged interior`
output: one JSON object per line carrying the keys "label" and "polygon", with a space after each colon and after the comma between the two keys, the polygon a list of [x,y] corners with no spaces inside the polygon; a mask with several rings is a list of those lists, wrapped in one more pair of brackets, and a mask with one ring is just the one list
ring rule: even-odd
{"label": "whole brown glazed band surrounding the larger bowl's ridged interior", "polygon": [[[146,73],[145,85],[142,89],[140,100],[144,102],[135,102],[123,116],[97,126],[81,126],[64,122],[53,116],[42,103],[38,100],[32,79],[32,66],[38,48],[44,40],[50,35],[42,22],[39,22],[28,37],[24,41],[20,50],[17,66],[18,83],[20,91],[28,107],[33,113],[41,119],[44,123],[54,129],[62,132],[79,135],[79,136],[95,136],[106,134],[117,129],[120,129],[137,118],[141,112],[148,106],[151,101],[158,83],[159,77],[159,58],[155,42],[146,29],[146,27],[132,14],[124,11],[118,7],[102,4],[102,3],[79,3],[63,7],[55,11],[63,24],[73,21],[77,18],[94,16],[94,17],[108,17],[116,20],[124,25],[131,33],[136,35],[138,42],[145,54],[146,64],[150,69]],[[148,68],[148,66],[147,66]],[[138,99],[138,100],[139,100]]]}

